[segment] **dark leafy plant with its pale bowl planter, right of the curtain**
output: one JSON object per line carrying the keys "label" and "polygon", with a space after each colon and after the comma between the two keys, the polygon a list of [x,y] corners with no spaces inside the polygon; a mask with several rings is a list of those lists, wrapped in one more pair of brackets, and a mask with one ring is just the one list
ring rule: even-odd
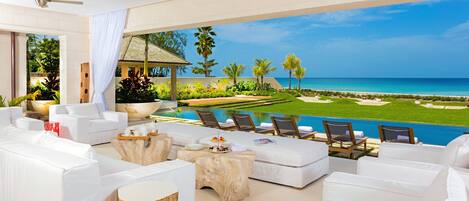
{"label": "dark leafy plant with its pale bowl planter, right of the curtain", "polygon": [[161,102],[152,85],[148,77],[138,76],[138,72],[121,80],[116,89],[117,111],[127,112],[130,121],[143,120],[156,112]]}

